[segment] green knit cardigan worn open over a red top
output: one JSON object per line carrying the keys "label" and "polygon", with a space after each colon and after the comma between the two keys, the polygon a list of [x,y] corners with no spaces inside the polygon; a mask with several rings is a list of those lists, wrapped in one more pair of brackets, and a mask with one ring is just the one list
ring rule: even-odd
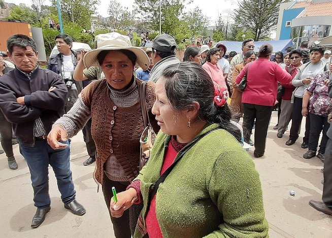
{"label": "green knit cardigan worn open over a red top", "polygon": [[[216,127],[209,125],[197,137]],[[136,178],[144,208],[134,237],[148,237],[143,234],[148,194],[160,177],[170,139],[158,133],[150,160]],[[164,238],[268,237],[259,175],[250,155],[223,129],[197,142],[159,185],[156,215]]]}

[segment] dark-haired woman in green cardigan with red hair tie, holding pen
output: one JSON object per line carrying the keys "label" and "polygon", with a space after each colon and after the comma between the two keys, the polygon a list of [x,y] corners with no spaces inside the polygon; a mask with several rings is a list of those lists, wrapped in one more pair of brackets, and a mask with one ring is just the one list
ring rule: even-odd
{"label": "dark-haired woman in green cardigan with red hair tie, holding pen", "polygon": [[259,175],[230,123],[227,96],[196,63],[164,70],[152,108],[162,132],[148,164],[110,204],[120,217],[144,202],[134,237],[268,237]]}

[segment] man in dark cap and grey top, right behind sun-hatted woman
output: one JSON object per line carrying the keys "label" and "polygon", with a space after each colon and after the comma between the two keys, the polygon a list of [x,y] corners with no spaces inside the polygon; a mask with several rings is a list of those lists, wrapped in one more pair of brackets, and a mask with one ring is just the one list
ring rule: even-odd
{"label": "man in dark cap and grey top, right behind sun-hatted woman", "polygon": [[152,62],[154,64],[150,73],[149,81],[157,82],[165,67],[180,63],[175,55],[176,42],[168,34],[162,34],[154,39],[152,43]]}

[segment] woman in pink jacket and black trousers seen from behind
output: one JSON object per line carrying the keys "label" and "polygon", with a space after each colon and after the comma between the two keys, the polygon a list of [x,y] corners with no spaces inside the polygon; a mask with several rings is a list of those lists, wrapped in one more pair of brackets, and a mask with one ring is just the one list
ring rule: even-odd
{"label": "woman in pink jacket and black trousers seen from behind", "polygon": [[[243,134],[249,144],[252,125],[256,119],[255,151],[256,158],[264,155],[268,127],[272,109],[277,99],[278,82],[289,83],[291,76],[281,67],[270,61],[273,47],[263,44],[259,48],[258,60],[246,65],[236,79],[239,84],[247,73],[247,85],[242,93]],[[249,70],[248,70],[249,69]]]}

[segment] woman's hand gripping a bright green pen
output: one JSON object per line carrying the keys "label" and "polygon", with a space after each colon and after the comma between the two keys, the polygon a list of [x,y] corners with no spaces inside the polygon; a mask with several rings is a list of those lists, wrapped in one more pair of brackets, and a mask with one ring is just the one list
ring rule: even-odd
{"label": "woman's hand gripping a bright green pen", "polygon": [[134,188],[116,194],[118,202],[111,198],[110,211],[112,217],[121,217],[125,210],[130,208],[137,200],[137,192]]}

